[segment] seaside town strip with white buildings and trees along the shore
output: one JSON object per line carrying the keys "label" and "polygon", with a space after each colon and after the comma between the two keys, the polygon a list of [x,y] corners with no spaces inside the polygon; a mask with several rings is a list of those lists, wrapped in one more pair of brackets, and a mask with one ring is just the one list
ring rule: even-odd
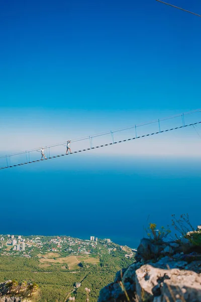
{"label": "seaside town strip with white buildings and trees along the shore", "polygon": [[37,254],[43,255],[49,252],[68,255],[90,255],[100,254],[100,250],[106,249],[110,254],[112,251],[120,250],[126,258],[132,258],[135,250],[127,246],[120,246],[111,239],[98,239],[90,236],[89,240],[72,238],[69,236],[22,236],[22,235],[0,235],[0,255],[33,257]]}

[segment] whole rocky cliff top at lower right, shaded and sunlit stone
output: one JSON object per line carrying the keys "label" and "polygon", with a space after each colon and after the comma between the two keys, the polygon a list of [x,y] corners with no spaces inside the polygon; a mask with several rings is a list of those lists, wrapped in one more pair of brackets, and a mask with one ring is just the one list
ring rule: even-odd
{"label": "whole rocky cliff top at lower right, shaded and sunlit stone", "polygon": [[135,259],[100,290],[98,302],[201,302],[201,246],[196,242],[142,239]]}

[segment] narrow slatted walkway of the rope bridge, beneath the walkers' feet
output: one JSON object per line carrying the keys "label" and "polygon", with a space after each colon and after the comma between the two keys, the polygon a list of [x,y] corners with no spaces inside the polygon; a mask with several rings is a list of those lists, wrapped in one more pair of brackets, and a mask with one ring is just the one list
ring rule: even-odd
{"label": "narrow slatted walkway of the rope bridge, beneath the walkers' feet", "polygon": [[[95,146],[95,147],[91,147],[91,148],[86,148],[86,149],[74,151],[74,152],[71,152],[70,154],[76,154],[76,153],[80,153],[80,152],[84,152],[84,151],[88,151],[88,150],[92,150],[92,149],[96,149],[96,148],[101,148],[101,147],[113,145],[113,144],[116,144],[116,143],[121,143],[121,142],[130,141],[130,140],[134,140],[134,139],[138,139],[138,138],[142,138],[142,137],[152,136],[152,135],[163,133],[163,132],[167,132],[167,131],[172,131],[172,130],[176,130],[176,129],[180,129],[180,128],[185,128],[185,127],[188,127],[188,126],[193,126],[194,127],[194,125],[197,125],[197,124],[201,124],[201,121],[196,122],[196,123],[192,123],[192,124],[188,124],[188,125],[184,125],[184,126],[179,126],[179,127],[175,127],[175,128],[171,128],[171,129],[166,129],[166,130],[154,132],[154,133],[149,133],[149,134],[145,134],[145,135],[141,135],[141,136],[137,136],[137,137],[132,137],[132,138],[127,138],[127,139],[123,139],[123,140],[119,140],[119,141],[115,141],[115,142],[111,142],[111,143],[106,143],[106,144]],[[8,167],[1,167],[0,170],[2,170],[2,169],[8,169],[8,168],[14,168],[14,167],[18,167],[18,166],[22,166],[22,165],[27,165],[27,164],[32,164],[32,163],[37,163],[37,162],[41,162],[41,161],[47,161],[47,160],[50,160],[50,159],[55,159],[55,158],[58,158],[58,157],[61,157],[61,156],[66,156],[66,155],[69,155],[69,154],[61,154],[61,155],[49,157],[47,159],[41,159],[41,160],[26,162],[26,163],[22,163],[22,164],[18,164],[18,165],[13,165],[13,166],[8,166]]]}

